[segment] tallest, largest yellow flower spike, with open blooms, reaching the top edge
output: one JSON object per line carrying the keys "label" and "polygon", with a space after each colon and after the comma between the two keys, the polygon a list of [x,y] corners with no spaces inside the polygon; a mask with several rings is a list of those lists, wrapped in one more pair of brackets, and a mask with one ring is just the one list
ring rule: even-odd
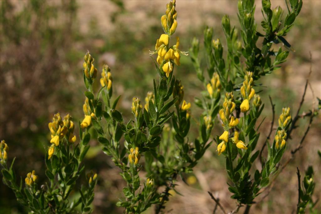
{"label": "tallest, largest yellow flower spike, with open blooms, reaching the top edge", "polygon": [[173,63],[180,65],[180,54],[187,55],[187,52],[182,52],[178,49],[179,38],[176,38],[176,45],[169,47],[169,38],[175,32],[177,27],[177,12],[175,10],[175,0],[169,2],[166,5],[166,14],[160,18],[161,25],[165,34],[160,35],[155,45],[155,52],[151,52],[151,55],[158,54],[157,63],[162,66],[162,70],[169,77],[169,74],[173,71]]}

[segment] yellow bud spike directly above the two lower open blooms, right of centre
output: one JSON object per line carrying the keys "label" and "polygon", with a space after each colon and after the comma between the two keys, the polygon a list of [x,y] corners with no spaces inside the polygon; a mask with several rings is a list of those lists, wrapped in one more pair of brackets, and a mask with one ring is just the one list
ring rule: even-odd
{"label": "yellow bud spike directly above the two lower open blooms, right of centre", "polygon": [[219,111],[220,118],[223,122],[223,127],[225,130],[229,130],[239,124],[239,119],[232,116],[232,112],[235,109],[235,103],[233,92],[228,92],[225,94],[223,108]]}

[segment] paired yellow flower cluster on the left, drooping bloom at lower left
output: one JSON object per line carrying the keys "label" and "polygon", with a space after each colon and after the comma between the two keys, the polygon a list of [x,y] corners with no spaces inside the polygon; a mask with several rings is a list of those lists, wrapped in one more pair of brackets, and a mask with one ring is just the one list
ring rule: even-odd
{"label": "paired yellow flower cluster on the left, drooping bloom at lower left", "polygon": [[59,113],[55,114],[52,118],[52,122],[48,124],[51,133],[51,146],[48,150],[48,159],[52,157],[55,152],[55,146],[59,146],[59,142],[63,140],[66,136],[69,143],[74,143],[76,141],[76,136],[74,135],[74,123],[71,121],[72,117],[67,114],[62,120]]}

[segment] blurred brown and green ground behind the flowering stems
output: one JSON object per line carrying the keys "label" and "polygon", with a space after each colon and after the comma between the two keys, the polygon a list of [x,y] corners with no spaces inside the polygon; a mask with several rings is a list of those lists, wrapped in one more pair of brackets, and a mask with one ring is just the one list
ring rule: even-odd
{"label": "blurred brown and green ground behind the flowering stems", "polygon": [[[113,75],[114,95],[122,95],[118,108],[128,121],[131,115],[131,98],[144,99],[152,90],[152,79],[157,78],[155,65],[148,56],[154,49],[156,39],[162,33],[160,16],[165,13],[167,1],[1,1],[0,4],[0,139],[10,150],[8,158],[15,161],[17,176],[24,178],[35,169],[39,183],[46,182],[45,148],[49,146],[48,122],[56,112],[71,113],[74,121],[83,117],[82,104],[85,87],[82,80],[83,56],[89,50],[99,68],[107,63]],[[262,21],[261,2],[256,2],[256,22]],[[272,1],[272,8],[284,1]],[[206,25],[214,28],[214,39],[220,38],[221,17],[230,16],[231,25],[238,26],[236,1],[180,1],[176,3],[180,49],[187,51],[193,37],[203,44]],[[261,28],[258,26],[258,30]],[[276,117],[282,107],[290,106],[294,115],[303,94],[310,66],[311,89],[308,88],[303,111],[316,104],[314,96],[320,97],[321,89],[321,1],[304,1],[294,27],[286,36],[293,50],[282,68],[262,78],[266,88],[261,97],[265,103],[260,127],[261,136],[257,148],[265,141],[271,123],[271,106],[268,95],[276,104]],[[310,59],[310,53],[312,58]],[[205,68],[204,49],[200,58]],[[182,80],[185,99],[193,102],[194,96],[204,90],[188,56],[181,57],[181,66],[175,76]],[[96,89],[99,81],[95,82]],[[192,103],[192,117],[198,119],[200,110]],[[287,143],[288,150],[283,162],[290,157],[307,126],[307,119],[300,120],[301,129],[293,133]],[[77,127],[76,127],[77,128]],[[197,133],[192,124],[191,136]],[[214,129],[213,135],[221,132]],[[274,134],[274,132],[273,132]],[[274,136],[274,135],[273,135]],[[296,167],[301,174],[312,165],[316,188],[314,200],[320,198],[321,145],[320,116],[314,120],[304,141],[304,147],[277,178],[271,193],[259,204],[253,205],[251,213],[293,213],[297,203]],[[124,182],[119,169],[101,150],[97,141],[90,142],[85,163],[86,172],[99,174],[93,201],[94,213],[122,213],[115,203],[123,197]],[[194,173],[186,175],[190,185],[178,181],[177,190],[167,203],[168,213],[212,213],[214,202],[207,191],[220,198],[226,210],[232,210],[236,201],[230,199],[225,160],[218,157],[213,146],[195,167]],[[260,168],[259,162],[256,167]],[[84,177],[84,176],[83,176]],[[85,182],[85,181],[80,181]],[[13,192],[1,181],[0,213],[26,213],[15,200]],[[74,193],[72,193],[74,194]],[[75,196],[75,195],[74,195]],[[261,196],[259,196],[260,199]],[[317,204],[320,208],[320,203]],[[241,208],[241,211],[244,208]],[[221,210],[218,210],[220,213]],[[153,213],[153,209],[146,213]]]}

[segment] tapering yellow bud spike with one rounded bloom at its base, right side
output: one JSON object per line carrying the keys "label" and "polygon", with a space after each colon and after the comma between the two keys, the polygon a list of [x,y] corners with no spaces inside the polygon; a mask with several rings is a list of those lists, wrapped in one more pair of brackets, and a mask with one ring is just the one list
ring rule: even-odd
{"label": "tapering yellow bud spike with one rounded bloom at its base, right side", "polygon": [[255,90],[252,88],[254,85],[253,82],[253,73],[247,72],[244,76],[243,85],[241,86],[241,95],[243,97],[243,102],[241,103],[240,109],[241,112],[247,112],[250,109],[249,101],[254,97]]}

